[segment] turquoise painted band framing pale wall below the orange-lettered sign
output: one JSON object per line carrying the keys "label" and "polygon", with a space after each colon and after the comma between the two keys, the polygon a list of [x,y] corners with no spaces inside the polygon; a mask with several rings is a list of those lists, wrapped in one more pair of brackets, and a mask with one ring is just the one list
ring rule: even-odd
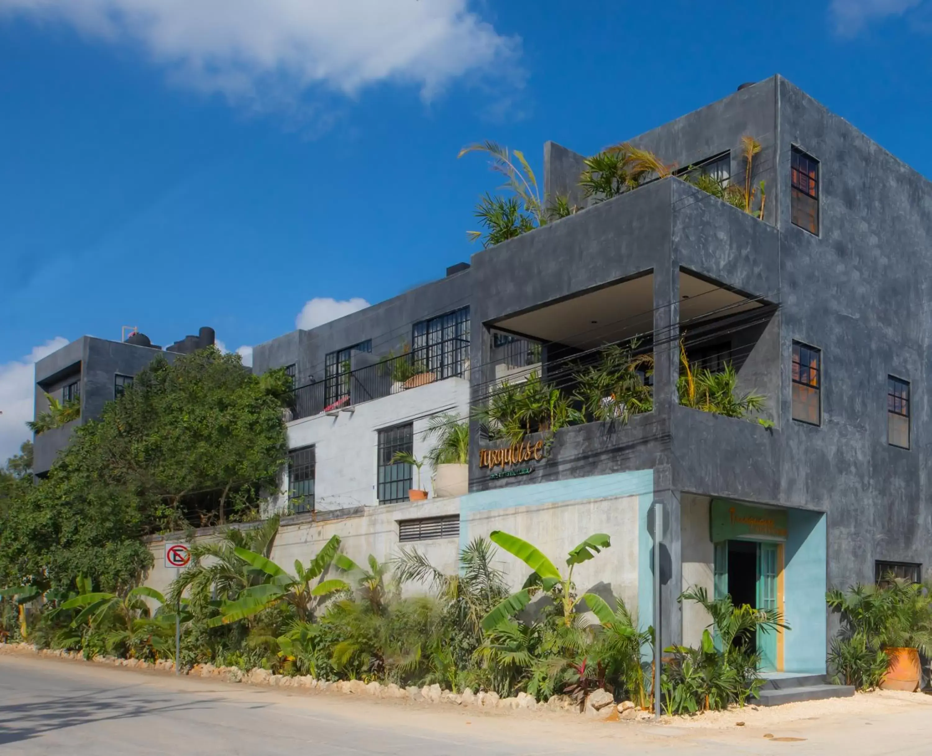
{"label": "turquoise painted band framing pale wall below the orange-lettered sign", "polygon": [[592,475],[467,494],[459,500],[459,546],[462,548],[470,542],[469,521],[476,512],[616,496],[637,496],[637,619],[639,625],[647,627],[653,621],[651,536],[647,532],[647,512],[653,501],[652,470]]}

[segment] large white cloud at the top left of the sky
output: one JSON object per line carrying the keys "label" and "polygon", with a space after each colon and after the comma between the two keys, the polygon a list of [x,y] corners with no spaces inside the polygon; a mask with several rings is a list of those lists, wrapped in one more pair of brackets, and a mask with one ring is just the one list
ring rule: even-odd
{"label": "large white cloud at the top left of the sky", "polygon": [[174,81],[258,107],[383,81],[430,99],[460,76],[506,76],[520,52],[470,0],[0,0],[4,12],[142,47]]}

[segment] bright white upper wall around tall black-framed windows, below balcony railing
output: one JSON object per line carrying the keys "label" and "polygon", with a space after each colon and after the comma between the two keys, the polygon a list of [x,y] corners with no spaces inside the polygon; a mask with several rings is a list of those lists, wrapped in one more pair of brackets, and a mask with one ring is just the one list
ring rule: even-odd
{"label": "bright white upper wall around tall black-framed windows, below balcony railing", "polygon": [[[421,459],[434,441],[425,441],[423,432],[430,417],[454,412],[469,415],[469,381],[446,378],[355,405],[335,417],[317,415],[288,424],[288,447],[313,444],[316,454],[315,508],[318,512],[356,506],[375,506],[377,500],[378,431],[403,422],[414,422],[414,455]],[[414,485],[418,485],[418,472]],[[282,489],[272,509],[287,507],[288,475],[282,474]],[[421,470],[421,486],[432,496],[432,471]]]}

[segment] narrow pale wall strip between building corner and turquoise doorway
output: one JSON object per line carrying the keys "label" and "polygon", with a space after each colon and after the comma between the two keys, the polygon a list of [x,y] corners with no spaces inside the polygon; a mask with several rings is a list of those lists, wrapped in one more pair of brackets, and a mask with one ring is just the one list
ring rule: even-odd
{"label": "narrow pale wall strip between building corner and turquoise doorway", "polygon": [[[707,496],[684,493],[680,498],[679,526],[683,590],[704,587],[715,598],[715,553],[709,537]],[[683,645],[698,648],[712,617],[694,601],[683,601]]]}

